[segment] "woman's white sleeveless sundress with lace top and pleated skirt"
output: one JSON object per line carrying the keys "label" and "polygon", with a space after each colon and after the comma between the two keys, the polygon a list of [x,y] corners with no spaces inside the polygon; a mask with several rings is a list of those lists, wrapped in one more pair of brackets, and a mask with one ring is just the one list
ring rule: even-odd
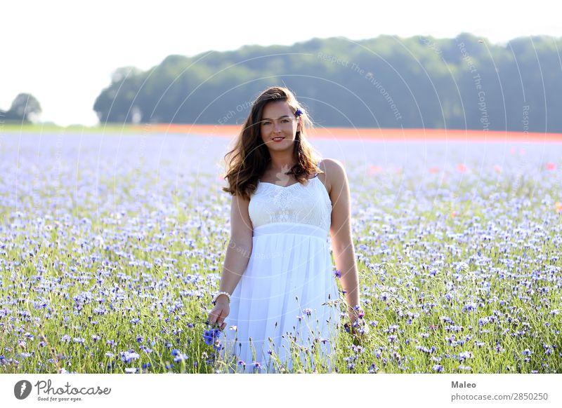
{"label": "woman's white sleeveless sundress with lace top and pleated skirt", "polygon": [[[273,355],[292,371],[292,343],[302,346],[303,365],[306,349],[318,349],[332,371],[340,311],[329,253],[331,215],[318,175],[287,187],[259,182],[249,202],[251,256],[221,337],[221,356],[236,372],[279,372]],[[309,358],[315,367],[314,356]]]}

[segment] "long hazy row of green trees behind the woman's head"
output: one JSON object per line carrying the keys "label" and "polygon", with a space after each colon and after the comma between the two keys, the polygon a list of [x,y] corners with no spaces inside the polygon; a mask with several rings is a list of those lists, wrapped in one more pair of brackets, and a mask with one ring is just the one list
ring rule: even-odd
{"label": "long hazy row of green trees behind the woman's head", "polygon": [[268,86],[288,86],[315,124],[562,132],[562,39],[506,45],[379,36],[170,55],[122,67],[93,105],[101,123],[240,124]]}

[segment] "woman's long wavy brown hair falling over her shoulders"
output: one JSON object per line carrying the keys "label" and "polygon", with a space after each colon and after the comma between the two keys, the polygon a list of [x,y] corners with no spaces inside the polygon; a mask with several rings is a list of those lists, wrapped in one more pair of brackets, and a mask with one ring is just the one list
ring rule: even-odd
{"label": "woman's long wavy brown hair falling over her shoulders", "polygon": [[[244,122],[242,130],[234,142],[234,147],[225,156],[228,187],[223,191],[233,196],[249,199],[258,187],[258,180],[266,172],[271,156],[268,147],[261,140],[261,119],[263,108],[270,102],[287,102],[293,113],[300,109],[298,116],[301,130],[296,132],[293,155],[296,164],[287,172],[294,175],[296,181],[303,184],[311,175],[322,173],[317,166],[320,156],[306,140],[306,131],[312,128],[312,121],[293,93],[279,86],[264,90],[252,103],[251,111]],[[296,114],[295,114],[296,116]]]}

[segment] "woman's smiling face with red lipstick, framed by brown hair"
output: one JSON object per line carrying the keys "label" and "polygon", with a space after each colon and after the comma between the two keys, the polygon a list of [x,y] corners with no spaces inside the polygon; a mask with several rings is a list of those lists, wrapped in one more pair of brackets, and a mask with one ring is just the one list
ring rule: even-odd
{"label": "woman's smiling face with red lipstick, framed by brown hair", "polygon": [[301,129],[299,122],[287,102],[269,102],[263,107],[261,140],[271,151],[293,149],[296,132]]}

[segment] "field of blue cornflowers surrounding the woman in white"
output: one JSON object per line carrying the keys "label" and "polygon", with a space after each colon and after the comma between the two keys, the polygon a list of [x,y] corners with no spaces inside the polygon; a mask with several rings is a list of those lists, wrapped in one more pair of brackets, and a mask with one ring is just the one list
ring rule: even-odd
{"label": "field of blue cornflowers surrounding the woman in white", "polygon": [[[365,315],[354,336],[342,316],[337,372],[562,373],[559,143],[312,143],[353,202]],[[227,144],[0,134],[1,373],[240,369],[205,323]]]}

